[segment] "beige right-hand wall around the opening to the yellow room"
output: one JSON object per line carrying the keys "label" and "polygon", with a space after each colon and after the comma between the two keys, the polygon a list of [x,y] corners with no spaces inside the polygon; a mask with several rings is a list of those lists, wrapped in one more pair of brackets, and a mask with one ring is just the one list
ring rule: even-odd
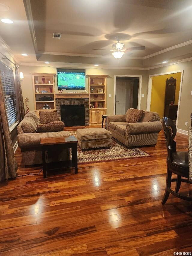
{"label": "beige right-hand wall around the opening to the yellow room", "polygon": [[[190,127],[190,113],[192,113],[192,61],[170,65],[162,68],[151,69],[148,70],[148,75],[162,74],[180,70],[184,70],[184,72],[177,128],[187,131],[187,128]],[[185,122],[188,122],[187,126],[185,126]]]}

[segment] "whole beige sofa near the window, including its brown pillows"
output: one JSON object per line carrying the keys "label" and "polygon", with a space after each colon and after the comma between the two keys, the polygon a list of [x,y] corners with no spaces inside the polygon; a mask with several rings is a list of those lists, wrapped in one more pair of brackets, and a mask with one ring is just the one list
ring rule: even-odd
{"label": "whole beige sofa near the window, including its brown pillows", "polygon": [[[44,112],[44,114],[41,115],[42,119],[39,119],[35,112],[30,111],[17,126],[17,143],[19,148],[21,149],[22,163],[25,166],[32,164],[42,164],[42,154],[40,146],[41,138],[70,136],[70,133],[68,131],[63,131],[64,124],[62,126],[63,122],[59,122],[60,119],[59,117],[57,119],[54,111],[51,111],[51,115],[50,112],[48,114],[46,114],[47,111],[42,112]],[[50,119],[50,116],[52,116],[52,119]],[[42,125],[40,121],[44,124]],[[50,121],[53,121],[53,123],[51,124],[51,128],[54,128],[54,125],[56,126],[58,123],[58,125],[60,125],[60,130],[62,131],[37,132],[38,126],[40,127],[40,131],[42,128],[44,128],[44,126],[47,126],[48,129],[50,129],[49,123],[46,124],[46,122]],[[51,149],[48,151],[46,161],[57,162],[69,159],[69,149],[62,148],[62,145],[56,145],[52,146]]]}

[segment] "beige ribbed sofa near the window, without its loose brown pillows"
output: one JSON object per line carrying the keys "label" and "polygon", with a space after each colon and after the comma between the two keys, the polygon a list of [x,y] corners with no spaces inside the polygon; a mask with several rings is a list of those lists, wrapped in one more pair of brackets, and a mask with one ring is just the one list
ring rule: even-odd
{"label": "beige ribbed sofa near the window, without its loose brown pillows", "polygon": [[[50,137],[63,137],[70,136],[68,131],[54,131],[54,132],[35,132],[37,124],[40,123],[38,116],[35,112],[30,111],[29,114],[26,115],[28,118],[33,118],[35,120],[33,124],[29,124],[32,127],[31,130],[34,132],[26,133],[23,128],[23,123],[27,117],[19,123],[17,126],[17,143],[22,153],[22,163],[26,165],[32,164],[42,164],[42,154],[41,154],[41,146],[40,140],[41,138],[50,138]],[[24,130],[23,130],[24,129]],[[62,145],[52,146],[47,154],[47,162],[57,162],[57,161],[65,161],[70,159],[69,149],[62,148]]]}

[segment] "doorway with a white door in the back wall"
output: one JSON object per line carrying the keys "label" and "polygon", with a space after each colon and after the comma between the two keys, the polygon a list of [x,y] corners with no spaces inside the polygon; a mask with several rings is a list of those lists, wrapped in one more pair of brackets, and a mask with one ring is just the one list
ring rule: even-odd
{"label": "doorway with a white door in the back wall", "polygon": [[140,77],[116,76],[115,115],[125,115],[129,108],[138,108]]}

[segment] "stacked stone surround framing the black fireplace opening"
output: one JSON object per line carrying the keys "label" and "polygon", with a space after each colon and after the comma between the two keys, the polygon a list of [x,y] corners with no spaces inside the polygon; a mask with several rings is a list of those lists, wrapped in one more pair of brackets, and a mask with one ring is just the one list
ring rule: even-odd
{"label": "stacked stone surround framing the black fireplace opening", "polygon": [[84,105],[85,125],[89,125],[89,99],[88,98],[55,98],[55,108],[61,116],[61,105]]}

